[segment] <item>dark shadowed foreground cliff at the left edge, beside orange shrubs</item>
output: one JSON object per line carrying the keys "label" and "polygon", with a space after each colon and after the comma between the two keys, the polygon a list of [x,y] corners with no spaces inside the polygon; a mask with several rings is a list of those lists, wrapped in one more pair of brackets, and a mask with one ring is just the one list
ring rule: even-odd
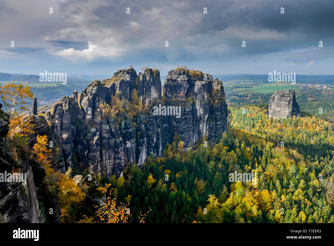
{"label": "dark shadowed foreground cliff at the left edge, beside orange shrubs", "polygon": [[[19,170],[19,173],[26,174],[25,182],[0,182],[0,221],[6,223],[41,223],[46,222],[43,219],[42,212],[39,209],[39,187],[45,176],[45,170],[38,163],[30,159],[25,152],[20,152],[21,158],[14,162],[11,143],[7,138],[9,130],[9,115],[1,110],[0,104],[0,173],[12,173],[13,168]],[[43,116],[27,115],[25,120],[32,121],[35,124],[35,134],[29,136],[28,144],[33,145],[37,134],[52,136],[51,128]],[[58,222],[60,220],[60,207],[57,197],[49,198],[40,194],[45,201],[42,207],[44,210],[53,208],[54,214],[46,218],[49,222]],[[48,204],[51,200],[52,204]],[[1,216],[2,215],[2,216]],[[51,218],[52,217],[52,218]]]}

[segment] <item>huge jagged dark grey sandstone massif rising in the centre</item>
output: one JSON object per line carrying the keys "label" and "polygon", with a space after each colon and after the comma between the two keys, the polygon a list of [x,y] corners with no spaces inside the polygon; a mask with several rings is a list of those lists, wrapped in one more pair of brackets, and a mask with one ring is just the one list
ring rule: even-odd
{"label": "huge jagged dark grey sandstone massif rising in the centre", "polygon": [[[133,89],[148,112],[135,117],[121,114],[118,121],[103,116],[101,103],[110,104],[116,93],[130,101]],[[90,83],[79,101],[73,92],[73,97],[61,98],[46,112],[63,152],[64,163],[58,161],[63,172],[70,166],[108,178],[122,176],[127,163],[141,165],[150,154],[160,156],[175,133],[184,147],[191,148],[204,135],[212,143],[227,131],[224,88],[208,74],[172,70],[161,88],[158,70],[146,69],[139,75],[133,68],[119,70],[113,78]],[[171,115],[154,110],[164,106],[171,108]]]}

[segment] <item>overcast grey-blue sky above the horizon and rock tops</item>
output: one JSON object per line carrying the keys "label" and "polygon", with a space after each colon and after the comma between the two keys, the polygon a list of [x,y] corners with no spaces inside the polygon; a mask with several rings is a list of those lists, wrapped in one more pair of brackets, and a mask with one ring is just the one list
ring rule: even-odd
{"label": "overcast grey-blue sky above the horizon and rock tops", "polygon": [[333,0],[140,2],[1,0],[0,72],[334,74]]}

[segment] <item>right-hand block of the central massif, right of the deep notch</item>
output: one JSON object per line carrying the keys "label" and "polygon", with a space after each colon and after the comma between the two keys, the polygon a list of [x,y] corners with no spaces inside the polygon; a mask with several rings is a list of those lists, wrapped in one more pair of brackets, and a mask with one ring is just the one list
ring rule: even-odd
{"label": "right-hand block of the central massif, right of the deep notch", "polygon": [[[207,135],[211,143],[227,132],[227,104],[223,83],[209,74],[171,70],[163,85],[168,104],[181,105],[181,118],[170,118],[170,127],[184,147]],[[192,103],[190,103],[192,102]]]}

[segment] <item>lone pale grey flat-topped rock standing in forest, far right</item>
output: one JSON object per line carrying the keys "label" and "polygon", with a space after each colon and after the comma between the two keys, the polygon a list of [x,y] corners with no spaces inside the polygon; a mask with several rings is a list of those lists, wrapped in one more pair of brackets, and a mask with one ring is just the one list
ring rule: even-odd
{"label": "lone pale grey flat-topped rock standing in forest, far right", "polygon": [[277,91],[269,99],[269,116],[275,119],[300,117],[295,90]]}

